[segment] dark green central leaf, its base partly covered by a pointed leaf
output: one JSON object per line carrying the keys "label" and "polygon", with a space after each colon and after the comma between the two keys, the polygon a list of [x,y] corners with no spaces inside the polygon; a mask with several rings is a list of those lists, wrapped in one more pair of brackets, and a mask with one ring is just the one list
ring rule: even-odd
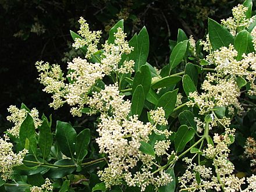
{"label": "dark green central leaf, its base partly covered by a pointed leaf", "polygon": [[140,70],[136,72],[133,80],[133,92],[135,91],[138,85],[143,86],[144,95],[147,95],[151,86],[151,73],[147,65],[141,66]]}

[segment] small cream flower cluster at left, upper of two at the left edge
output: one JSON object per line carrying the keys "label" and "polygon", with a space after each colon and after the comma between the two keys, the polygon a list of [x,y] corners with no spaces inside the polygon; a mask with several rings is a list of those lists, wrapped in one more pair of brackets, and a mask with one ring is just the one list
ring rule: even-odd
{"label": "small cream flower cluster at left, upper of two at the left edge", "polygon": [[34,126],[37,128],[41,125],[42,121],[38,118],[38,111],[37,109],[33,108],[31,111],[26,111],[26,109],[18,109],[16,106],[10,105],[8,108],[8,112],[10,113],[7,116],[7,120],[9,122],[13,122],[14,126],[12,129],[8,129],[8,132],[15,137],[19,137],[20,126],[24,119],[26,119],[27,114],[29,113],[34,120]]}

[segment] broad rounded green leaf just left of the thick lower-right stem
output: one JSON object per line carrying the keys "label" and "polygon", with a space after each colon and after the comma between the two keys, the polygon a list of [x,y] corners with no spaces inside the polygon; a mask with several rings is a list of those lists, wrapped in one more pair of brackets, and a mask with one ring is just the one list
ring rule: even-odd
{"label": "broad rounded green leaf just left of the thick lower-right stem", "polygon": [[195,130],[192,127],[186,125],[180,126],[174,140],[176,152],[183,151],[186,144],[194,137],[194,134]]}

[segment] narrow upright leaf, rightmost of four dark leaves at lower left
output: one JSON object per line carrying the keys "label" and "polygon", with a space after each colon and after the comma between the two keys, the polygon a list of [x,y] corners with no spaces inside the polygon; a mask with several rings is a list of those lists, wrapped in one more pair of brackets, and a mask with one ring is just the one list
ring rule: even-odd
{"label": "narrow upright leaf, rightmost of four dark leaves at lower left", "polygon": [[83,161],[87,155],[88,144],[90,143],[90,129],[84,129],[76,137],[76,159],[77,162]]}

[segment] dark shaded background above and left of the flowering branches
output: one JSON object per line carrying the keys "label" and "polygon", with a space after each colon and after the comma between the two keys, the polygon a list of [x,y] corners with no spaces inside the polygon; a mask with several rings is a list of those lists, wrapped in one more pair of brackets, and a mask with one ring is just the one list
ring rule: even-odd
{"label": "dark shaded background above and left of the flowering branches", "polygon": [[[231,9],[241,1],[228,0],[169,0],[169,1],[40,1],[0,0],[0,132],[8,122],[6,108],[23,102],[37,108],[54,121],[85,119],[73,118],[69,106],[53,112],[48,104],[51,95],[42,92],[34,63],[38,60],[58,63],[62,69],[67,61],[79,56],[72,49],[69,30],[77,31],[77,20],[83,16],[91,30],[102,30],[103,36],[113,24],[125,19],[128,39],[143,26],[150,35],[148,62],[156,67],[169,61],[169,40],[176,40],[177,29],[203,38],[207,17],[217,21],[230,16]],[[103,38],[102,38],[103,39]]]}

